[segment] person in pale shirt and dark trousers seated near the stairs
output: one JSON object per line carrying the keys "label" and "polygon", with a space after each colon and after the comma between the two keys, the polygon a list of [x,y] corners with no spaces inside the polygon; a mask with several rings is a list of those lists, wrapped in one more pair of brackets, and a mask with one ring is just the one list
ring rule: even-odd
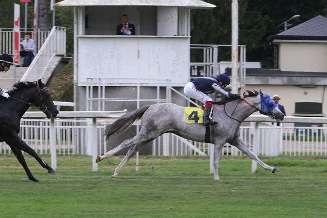
{"label": "person in pale shirt and dark trousers seated near the stairs", "polygon": [[36,55],[35,43],[31,39],[31,32],[25,32],[25,39],[21,43],[20,56],[24,57],[23,67],[28,67],[31,65],[33,57]]}

